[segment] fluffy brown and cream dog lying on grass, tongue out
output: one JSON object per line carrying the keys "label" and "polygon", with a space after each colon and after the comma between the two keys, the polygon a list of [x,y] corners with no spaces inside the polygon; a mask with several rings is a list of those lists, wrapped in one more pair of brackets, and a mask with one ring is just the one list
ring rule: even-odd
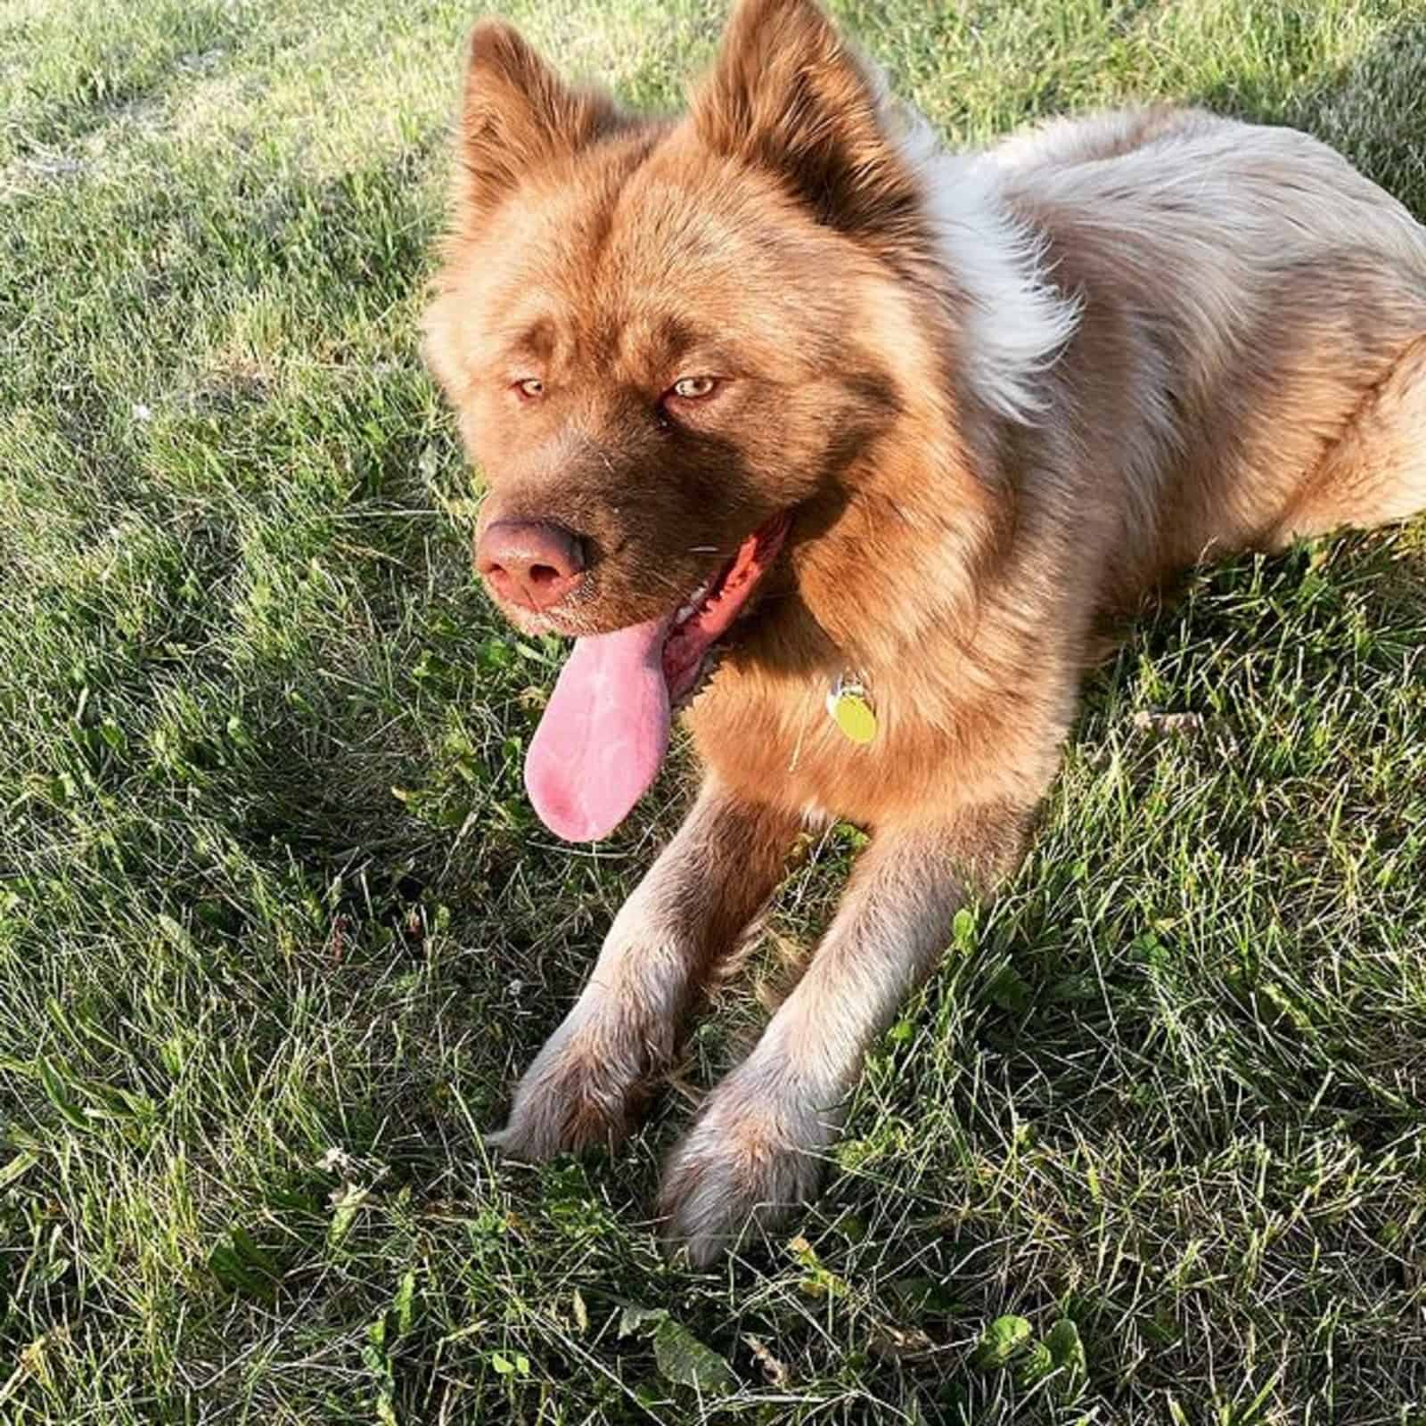
{"label": "fluffy brown and cream dog lying on grass, tongue out", "polygon": [[662,1188],[707,1263],[816,1191],[863,1055],[1020,864],[1107,625],[1189,566],[1426,508],[1426,228],[1192,108],[938,148],[813,0],[737,0],[676,117],[471,40],[426,361],[473,556],[575,637],[526,761],[609,833],[703,769],[519,1081],[506,1154],[626,1134],[800,830],[870,833]]}

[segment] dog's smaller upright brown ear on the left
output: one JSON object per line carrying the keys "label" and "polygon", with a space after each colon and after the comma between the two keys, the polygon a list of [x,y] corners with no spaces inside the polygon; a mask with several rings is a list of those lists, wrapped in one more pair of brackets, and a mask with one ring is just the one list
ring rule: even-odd
{"label": "dog's smaller upright brown ear on the left", "polygon": [[613,100],[568,86],[503,20],[471,34],[458,194],[468,217],[495,208],[532,168],[570,157],[622,120]]}

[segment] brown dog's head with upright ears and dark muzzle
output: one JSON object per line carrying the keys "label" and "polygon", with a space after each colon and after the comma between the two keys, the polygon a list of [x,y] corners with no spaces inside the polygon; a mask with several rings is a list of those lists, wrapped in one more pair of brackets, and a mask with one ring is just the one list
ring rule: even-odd
{"label": "brown dog's head with upright ears and dark muzzle", "polygon": [[568,737],[646,714],[665,736],[655,673],[665,703],[687,694],[894,419],[908,338],[886,292],[924,220],[886,130],[811,0],[743,0],[677,120],[476,27],[426,354],[483,472],[492,596],[589,645],[566,669],[585,704],[626,684],[607,729]]}

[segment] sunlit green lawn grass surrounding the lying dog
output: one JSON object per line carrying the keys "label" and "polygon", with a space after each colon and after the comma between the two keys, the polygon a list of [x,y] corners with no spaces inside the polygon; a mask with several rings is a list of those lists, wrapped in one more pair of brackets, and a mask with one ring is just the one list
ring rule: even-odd
{"label": "sunlit green lawn grass surrounding the lying dog", "polygon": [[[1406,0],[837,10],[957,141],[1189,98],[1426,217]],[[511,10],[643,104],[719,11]],[[468,21],[0,0],[0,1420],[1426,1420],[1420,522],[1092,682],[799,1236],[692,1275],[647,1214],[846,829],[613,1162],[491,1162],[687,779],[597,851],[522,797],[558,650],[415,339]]]}

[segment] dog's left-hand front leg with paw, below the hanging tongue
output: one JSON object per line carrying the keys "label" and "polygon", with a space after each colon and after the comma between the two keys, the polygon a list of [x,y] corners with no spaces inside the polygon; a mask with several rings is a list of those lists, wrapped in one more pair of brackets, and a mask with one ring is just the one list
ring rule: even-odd
{"label": "dog's left-hand front leg with paw, below the hanging tongue", "polygon": [[623,1138],[709,975],[777,888],[797,827],[790,813],[704,783],[489,1142],[542,1159]]}

